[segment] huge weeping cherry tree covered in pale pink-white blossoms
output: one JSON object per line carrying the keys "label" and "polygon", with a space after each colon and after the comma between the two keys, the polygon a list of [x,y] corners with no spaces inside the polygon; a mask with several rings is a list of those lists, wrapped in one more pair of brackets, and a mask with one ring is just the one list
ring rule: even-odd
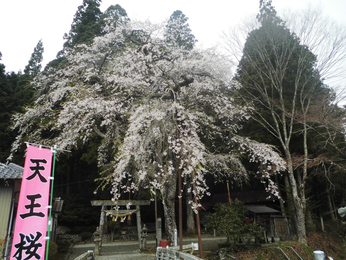
{"label": "huge weeping cherry tree covered in pale pink-white blossoms", "polygon": [[[236,134],[251,108],[235,106],[229,96],[239,87],[229,60],[168,44],[165,24],[128,22],[106,31],[70,53],[66,68],[36,79],[35,105],[13,118],[19,135],[12,153],[23,139],[70,149],[97,134],[99,164],[108,165],[100,186],[112,184],[113,200],[123,192],[160,191],[171,241],[178,170],[200,199],[208,193],[208,173],[246,179],[241,159],[249,156],[275,192],[270,175],[285,162],[272,147]],[[190,203],[196,210],[198,203]]]}

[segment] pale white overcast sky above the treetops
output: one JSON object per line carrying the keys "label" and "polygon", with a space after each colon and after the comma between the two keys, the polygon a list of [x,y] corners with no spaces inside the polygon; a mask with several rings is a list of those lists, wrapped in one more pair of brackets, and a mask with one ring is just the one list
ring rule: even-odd
{"label": "pale white overcast sky above the treetops", "polygon": [[[0,0],[0,52],[6,71],[24,70],[40,39],[43,66],[62,49],[77,7],[83,0]],[[346,0],[272,0],[275,9],[304,9],[321,6],[323,12],[346,25]],[[198,43],[211,47],[219,35],[247,15],[256,14],[259,0],[103,0],[104,11],[120,4],[132,20],[161,22],[181,10]]]}

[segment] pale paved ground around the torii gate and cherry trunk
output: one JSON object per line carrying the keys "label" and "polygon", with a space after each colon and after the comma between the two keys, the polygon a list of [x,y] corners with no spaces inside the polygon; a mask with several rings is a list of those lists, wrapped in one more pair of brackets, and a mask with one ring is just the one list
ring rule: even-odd
{"label": "pale paved ground around the torii gate and cherry trunk", "polygon": [[[218,243],[225,243],[225,237],[203,237],[202,246],[203,250],[216,249]],[[183,244],[188,245],[197,243],[198,239],[183,238]],[[156,240],[148,240],[147,247],[155,247]],[[94,244],[74,245],[71,250],[71,255],[68,260],[74,260],[80,255],[86,253],[88,250],[94,250]],[[139,252],[139,245],[137,240],[131,241],[115,241],[103,243],[101,249],[101,256],[95,257],[95,260],[155,260],[155,255],[149,255]]]}

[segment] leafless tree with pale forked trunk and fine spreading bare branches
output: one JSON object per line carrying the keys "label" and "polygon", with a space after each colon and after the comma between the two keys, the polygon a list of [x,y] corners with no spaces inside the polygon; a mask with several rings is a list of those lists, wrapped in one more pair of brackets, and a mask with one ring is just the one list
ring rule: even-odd
{"label": "leafless tree with pale forked trunk and fine spreading bare branches", "polygon": [[[239,62],[235,78],[243,87],[237,94],[243,104],[255,107],[253,119],[279,141],[285,155],[297,235],[306,244],[309,122],[316,105],[331,92],[323,80],[345,75],[346,31],[323,20],[320,11],[289,18],[284,22],[270,0],[261,1],[257,21],[247,20],[224,34],[224,40]],[[302,170],[294,174],[292,143],[298,139],[303,148]]]}

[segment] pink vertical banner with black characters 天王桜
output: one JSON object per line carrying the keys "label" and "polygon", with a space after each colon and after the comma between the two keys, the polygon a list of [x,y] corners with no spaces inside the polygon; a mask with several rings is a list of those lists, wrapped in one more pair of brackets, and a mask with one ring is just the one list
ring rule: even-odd
{"label": "pink vertical banner with black characters \u5929\u738b\u685c", "polygon": [[11,260],[44,260],[52,151],[28,146]]}

